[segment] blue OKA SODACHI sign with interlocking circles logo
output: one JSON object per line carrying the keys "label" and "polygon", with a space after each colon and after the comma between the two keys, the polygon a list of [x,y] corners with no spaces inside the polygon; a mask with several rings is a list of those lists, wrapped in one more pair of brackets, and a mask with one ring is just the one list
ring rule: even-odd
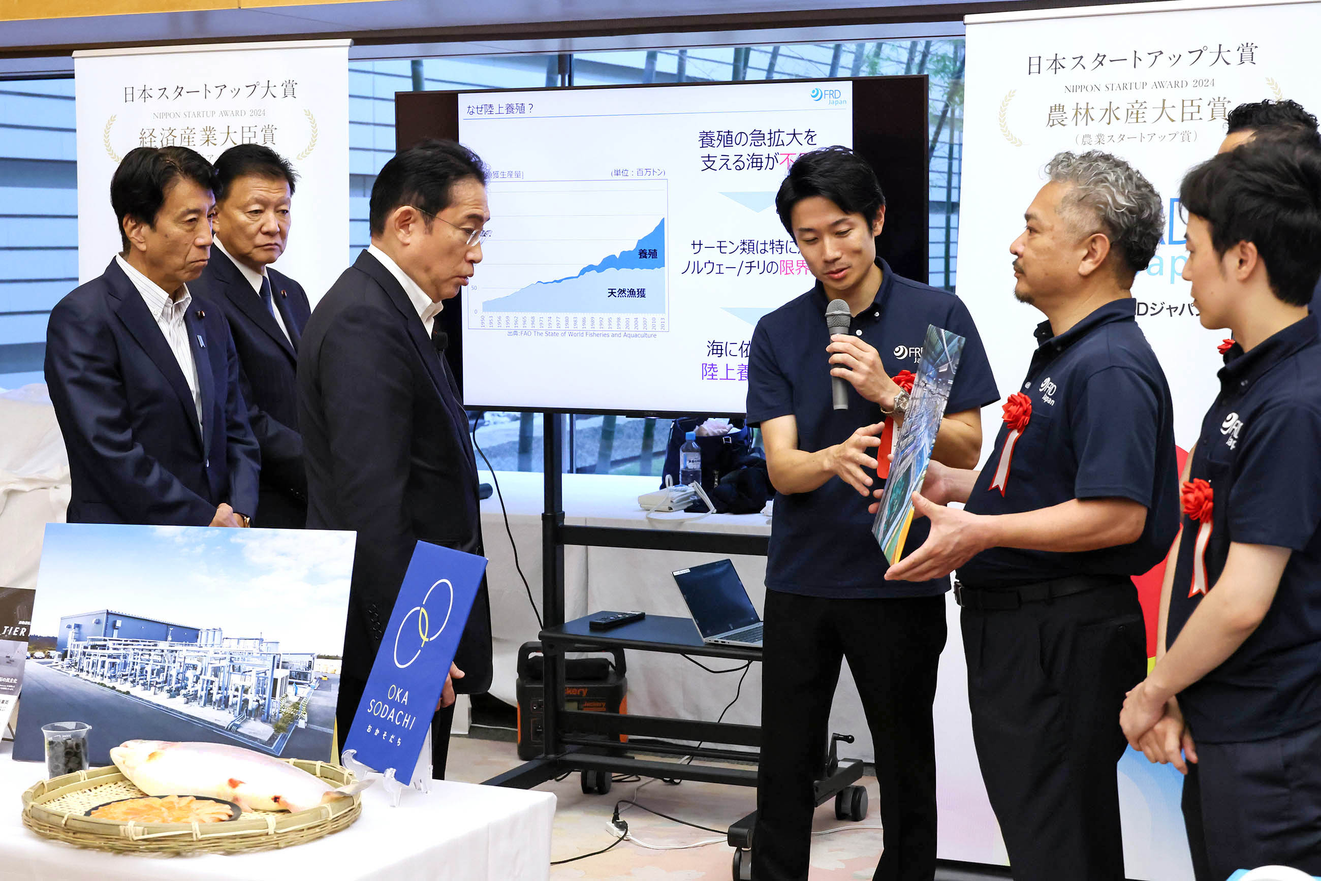
{"label": "blue OKA SODACHI sign with interlocking circles logo", "polygon": [[417,543],[343,742],[355,761],[413,767],[485,572],[486,557]]}

